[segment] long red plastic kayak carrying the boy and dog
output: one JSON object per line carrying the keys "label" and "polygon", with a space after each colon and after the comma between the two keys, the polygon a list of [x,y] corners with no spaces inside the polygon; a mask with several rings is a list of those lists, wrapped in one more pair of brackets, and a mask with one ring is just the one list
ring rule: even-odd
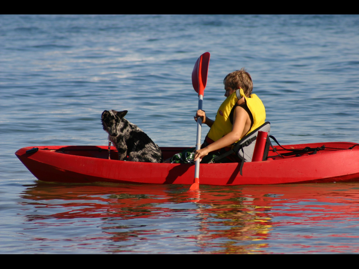
{"label": "long red plastic kayak carrying the boy and dog", "polygon": [[[266,161],[244,163],[243,175],[239,174],[238,163],[201,164],[200,183],[228,186],[359,181],[359,146],[355,145],[358,144],[285,145],[284,148],[292,150],[306,147],[318,150],[285,156],[288,151],[278,147],[282,156],[270,151]],[[38,150],[31,149],[33,147],[24,147],[15,154],[41,181],[192,184],[194,179],[193,164],[118,161],[115,147],[111,147],[111,160],[107,159],[107,146],[42,146],[37,147]],[[184,148],[161,149],[164,159],[167,159]]]}

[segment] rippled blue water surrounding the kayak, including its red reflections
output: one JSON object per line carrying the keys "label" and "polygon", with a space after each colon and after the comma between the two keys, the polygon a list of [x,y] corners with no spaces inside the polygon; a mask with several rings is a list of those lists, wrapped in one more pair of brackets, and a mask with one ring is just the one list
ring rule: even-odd
{"label": "rippled blue water surrounding the kayak, including its red reflections", "polygon": [[[107,145],[128,110],[160,146],[194,146],[204,110],[246,67],[281,143],[358,142],[358,15],[0,15],[0,253],[357,253],[359,183],[44,184],[25,146]],[[208,132],[202,128],[202,137]]]}

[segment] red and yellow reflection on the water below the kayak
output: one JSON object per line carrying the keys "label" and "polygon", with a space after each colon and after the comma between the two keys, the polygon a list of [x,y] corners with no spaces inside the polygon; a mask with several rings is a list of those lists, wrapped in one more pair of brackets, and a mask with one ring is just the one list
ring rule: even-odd
{"label": "red and yellow reflection on the water below the kayak", "polygon": [[[291,234],[273,233],[276,227],[335,227],[338,222],[346,222],[348,227],[348,222],[354,220],[353,225],[356,225],[359,220],[358,187],[358,183],[201,186],[200,192],[191,193],[187,192],[188,186],[178,185],[41,183],[29,187],[23,198],[27,199],[25,204],[50,213],[28,214],[26,217],[31,222],[99,218],[102,231],[116,245],[111,252],[132,251],[131,247],[123,247],[121,242],[125,241],[137,246],[140,241],[159,242],[177,237],[177,241],[182,238],[180,242],[184,245],[199,248],[195,252],[270,253],[266,249],[274,241],[292,237]],[[51,209],[56,210],[52,212]],[[180,219],[181,223],[169,225],[166,224],[168,219]],[[291,233],[295,230],[293,227]],[[297,236],[307,240],[315,237],[300,233]],[[330,236],[356,238],[358,234]],[[153,237],[156,239],[151,239]],[[269,239],[270,244],[267,243]],[[310,251],[316,252],[315,245],[290,244],[301,249],[312,247]],[[341,247],[327,247],[325,251],[339,251]]]}

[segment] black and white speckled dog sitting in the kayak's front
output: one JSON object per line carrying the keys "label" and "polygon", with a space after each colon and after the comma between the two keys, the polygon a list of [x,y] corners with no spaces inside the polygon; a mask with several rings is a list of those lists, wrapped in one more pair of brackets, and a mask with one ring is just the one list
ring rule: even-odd
{"label": "black and white speckled dog sitting in the kayak's front", "polygon": [[105,110],[101,116],[108,140],[118,151],[118,160],[162,163],[160,148],[140,128],[123,118],[126,114],[127,110]]}

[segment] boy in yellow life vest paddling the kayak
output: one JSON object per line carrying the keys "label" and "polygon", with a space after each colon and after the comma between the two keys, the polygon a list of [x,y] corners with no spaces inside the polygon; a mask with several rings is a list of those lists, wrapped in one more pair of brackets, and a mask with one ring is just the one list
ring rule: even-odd
{"label": "boy in yellow life vest paddling the kayak", "polygon": [[[220,105],[216,119],[207,118],[204,110],[198,110],[194,117],[196,121],[197,117],[201,117],[202,123],[211,128],[201,149],[196,150],[194,161],[197,159],[202,160],[202,158],[211,153],[210,155],[212,156],[209,156],[211,158],[207,158],[210,161],[214,158],[213,155],[220,155],[218,153],[220,150],[230,150],[233,143],[238,142],[242,137],[265,122],[266,112],[264,105],[257,95],[252,94],[253,82],[246,69],[242,68],[229,73],[224,78],[223,84],[224,96],[227,99]],[[176,155],[173,156],[172,163],[181,162],[176,161]],[[177,155],[177,157],[183,159],[181,155]],[[235,155],[228,157],[229,161],[241,161]],[[208,160],[205,162],[208,162]]]}

